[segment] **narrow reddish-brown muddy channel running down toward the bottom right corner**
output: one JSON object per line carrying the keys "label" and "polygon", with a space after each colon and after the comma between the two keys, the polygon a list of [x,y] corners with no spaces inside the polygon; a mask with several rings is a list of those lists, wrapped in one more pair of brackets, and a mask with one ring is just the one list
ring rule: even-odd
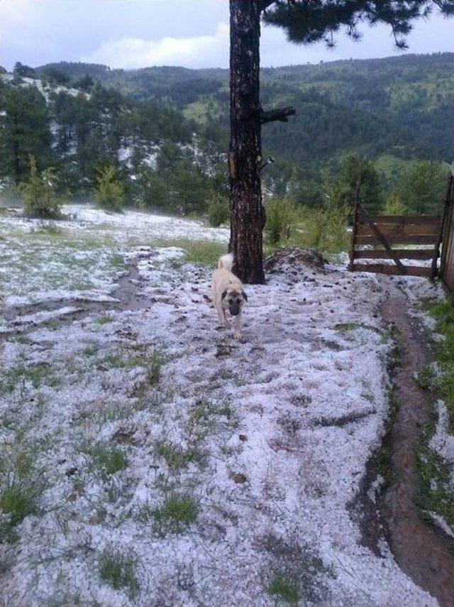
{"label": "narrow reddish-brown muddy channel running down toward the bottom right corner", "polygon": [[394,284],[382,306],[387,322],[397,329],[399,365],[394,371],[399,412],[391,433],[394,481],[384,493],[382,518],[399,566],[441,606],[454,605],[454,556],[447,538],[428,527],[414,505],[417,488],[415,450],[421,427],[428,421],[431,396],[414,379],[428,354],[416,323],[408,315],[406,295]]}

